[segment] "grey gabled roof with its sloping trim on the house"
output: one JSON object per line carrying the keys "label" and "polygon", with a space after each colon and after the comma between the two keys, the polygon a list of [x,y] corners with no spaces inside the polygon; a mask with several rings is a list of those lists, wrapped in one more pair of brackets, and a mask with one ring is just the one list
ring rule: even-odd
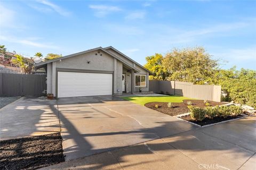
{"label": "grey gabled roof with its sloping trim on the house", "polygon": [[69,57],[74,57],[74,56],[77,56],[77,55],[81,55],[81,54],[85,54],[85,53],[90,53],[90,52],[93,52],[94,50],[102,50],[103,52],[113,56],[114,58],[116,58],[117,60],[121,61],[125,66],[129,67],[130,69],[133,69],[137,72],[140,72],[138,69],[136,69],[133,65],[130,65],[129,63],[127,63],[126,61],[124,61],[122,58],[116,56],[115,54],[111,53],[111,52],[108,52],[106,49],[113,49],[115,50],[115,52],[121,54],[122,56],[124,56],[125,58],[127,58],[128,60],[134,62],[135,64],[139,65],[140,67],[142,67],[142,69],[146,70],[149,72],[149,74],[153,74],[152,72],[150,72],[149,70],[147,70],[145,67],[143,67],[142,65],[140,65],[139,63],[133,61],[130,57],[124,55],[123,53],[119,52],[117,49],[115,49],[114,47],[106,47],[106,48],[102,48],[102,47],[97,47],[97,48],[92,48],[92,49],[88,49],[88,50],[85,50],[83,52],[79,52],[79,53],[74,53],[74,54],[70,54],[70,55],[67,55],[67,56],[63,56],[63,57],[59,57],[59,58],[55,58],[53,60],[49,60],[49,61],[46,61],[46,62],[41,62],[41,63],[37,63],[35,64],[35,68],[36,69],[39,69],[41,67],[44,67],[46,66],[46,64],[48,63],[52,63],[52,62],[56,62],[56,61],[60,61],[60,60],[63,60],[65,58],[69,58]]}

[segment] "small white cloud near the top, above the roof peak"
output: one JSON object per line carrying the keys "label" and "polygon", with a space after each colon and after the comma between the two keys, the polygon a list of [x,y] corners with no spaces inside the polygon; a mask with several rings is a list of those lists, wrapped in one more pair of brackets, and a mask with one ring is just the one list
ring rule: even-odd
{"label": "small white cloud near the top, above the roof peak", "polygon": [[101,18],[112,12],[122,11],[118,6],[109,6],[109,5],[89,5],[89,8],[95,10],[95,16]]}

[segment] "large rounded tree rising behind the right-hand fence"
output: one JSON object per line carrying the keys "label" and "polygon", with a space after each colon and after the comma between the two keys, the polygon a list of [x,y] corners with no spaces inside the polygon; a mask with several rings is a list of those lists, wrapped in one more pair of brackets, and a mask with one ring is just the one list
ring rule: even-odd
{"label": "large rounded tree rising behind the right-hand fence", "polygon": [[170,80],[204,84],[211,83],[218,61],[213,60],[203,47],[174,48],[166,54],[163,66],[170,73]]}

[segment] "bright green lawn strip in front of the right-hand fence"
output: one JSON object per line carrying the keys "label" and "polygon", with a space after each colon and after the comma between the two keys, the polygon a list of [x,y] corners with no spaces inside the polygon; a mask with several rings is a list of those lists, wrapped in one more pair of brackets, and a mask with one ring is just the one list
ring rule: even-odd
{"label": "bright green lawn strip in front of the right-hand fence", "polygon": [[132,96],[132,97],[122,97],[125,100],[132,101],[133,103],[144,106],[149,102],[172,102],[172,103],[181,103],[182,100],[192,100],[188,97],[183,96]]}

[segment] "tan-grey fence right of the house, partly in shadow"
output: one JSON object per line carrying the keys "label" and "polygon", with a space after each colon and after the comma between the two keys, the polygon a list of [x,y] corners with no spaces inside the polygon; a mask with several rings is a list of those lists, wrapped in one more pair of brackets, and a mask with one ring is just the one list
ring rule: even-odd
{"label": "tan-grey fence right of the house, partly in shadow", "polygon": [[197,85],[191,82],[150,80],[149,91],[202,100],[220,101],[221,99],[221,86]]}

